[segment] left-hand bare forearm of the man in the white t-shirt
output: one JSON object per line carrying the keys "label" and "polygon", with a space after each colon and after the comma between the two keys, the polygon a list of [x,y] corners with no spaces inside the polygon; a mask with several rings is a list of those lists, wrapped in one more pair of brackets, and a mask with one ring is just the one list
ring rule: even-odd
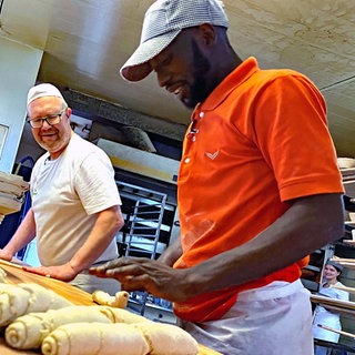
{"label": "left-hand bare forearm of the man in the white t-shirt", "polygon": [[33,211],[30,209],[9,243],[4,246],[3,252],[13,256],[18,251],[28,245],[34,236],[36,222]]}

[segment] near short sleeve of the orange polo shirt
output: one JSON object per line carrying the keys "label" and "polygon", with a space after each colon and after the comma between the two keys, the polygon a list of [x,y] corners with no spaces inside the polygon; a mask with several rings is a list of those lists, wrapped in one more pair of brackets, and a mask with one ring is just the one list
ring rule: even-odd
{"label": "near short sleeve of the orange polo shirt", "polygon": [[301,74],[281,75],[261,89],[254,140],[274,171],[282,201],[342,193],[325,101]]}

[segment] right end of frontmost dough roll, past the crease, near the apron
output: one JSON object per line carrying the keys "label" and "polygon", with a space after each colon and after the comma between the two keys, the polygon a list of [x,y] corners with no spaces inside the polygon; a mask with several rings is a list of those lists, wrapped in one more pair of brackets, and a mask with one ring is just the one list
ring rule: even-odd
{"label": "right end of frontmost dough roll, past the crease, near the apron", "polygon": [[142,322],[133,324],[151,346],[150,355],[195,355],[197,342],[184,329],[172,324]]}

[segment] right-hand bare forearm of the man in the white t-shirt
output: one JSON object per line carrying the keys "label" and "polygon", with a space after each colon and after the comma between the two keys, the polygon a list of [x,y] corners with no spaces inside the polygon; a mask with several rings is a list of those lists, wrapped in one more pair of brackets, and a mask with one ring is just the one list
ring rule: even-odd
{"label": "right-hand bare forearm of the man in the white t-shirt", "polygon": [[120,206],[98,213],[97,222],[82,247],[73,255],[70,266],[77,272],[88,268],[104,252],[124,221]]}

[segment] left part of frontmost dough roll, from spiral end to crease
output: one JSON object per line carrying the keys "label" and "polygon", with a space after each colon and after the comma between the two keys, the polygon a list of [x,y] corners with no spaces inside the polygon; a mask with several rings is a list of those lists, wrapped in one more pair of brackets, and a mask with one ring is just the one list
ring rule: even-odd
{"label": "left part of frontmost dough roll, from spiral end to crease", "polygon": [[47,336],[41,351],[43,355],[146,355],[150,347],[129,324],[72,323]]}

